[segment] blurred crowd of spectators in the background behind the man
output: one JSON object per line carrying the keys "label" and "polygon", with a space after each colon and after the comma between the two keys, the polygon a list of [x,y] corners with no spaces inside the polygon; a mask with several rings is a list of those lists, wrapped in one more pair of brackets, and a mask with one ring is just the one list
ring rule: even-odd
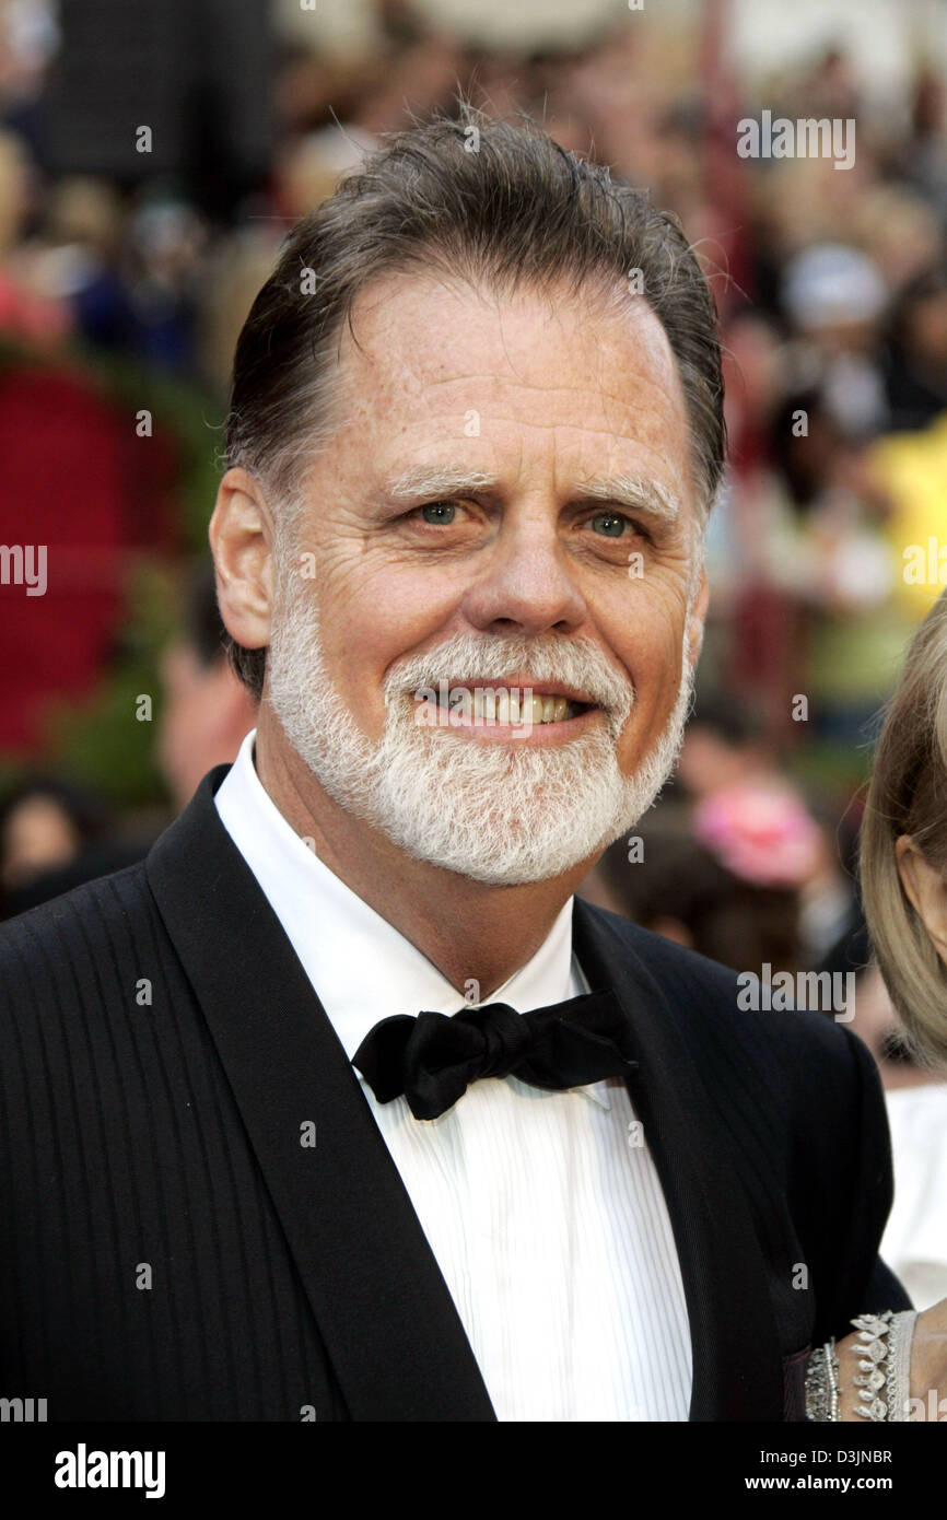
{"label": "blurred crowd of spectators in the background behind the man", "polygon": [[[854,968],[857,1028],[888,1084],[920,1081],[871,980],[854,859],[879,708],[941,590],[947,543],[947,97],[936,62],[918,47],[892,103],[844,47],[739,76],[724,5],[693,6],[690,26],[672,33],[616,12],[581,46],[500,50],[385,0],[371,46],[344,55],[319,49],[315,21],[309,32],[299,17],[281,24],[286,11],[266,21],[255,76],[269,102],[263,157],[188,176],[62,172],[50,116],[68,24],[49,0],[0,5],[0,347],[14,354],[0,369],[0,444],[30,427],[6,410],[11,375],[61,366],[74,386],[119,360],[196,398],[213,464],[233,345],[286,228],[409,112],[451,112],[459,91],[500,116],[524,111],[564,147],[648,185],[681,217],[714,289],[731,456],[708,535],[711,613],[679,774],[587,894],[736,968]],[[740,158],[737,122],[763,108],[854,120],[854,164]],[[134,385],[126,406],[131,397]],[[36,410],[49,406],[40,391]],[[88,427],[78,432],[88,439]],[[102,476],[79,458],[73,476]],[[119,496],[129,496],[126,479],[117,470]],[[43,489],[35,518],[55,537],[49,482]],[[53,649],[23,690],[21,711],[36,720],[0,733],[6,912],[134,857],[252,724],[220,654],[207,564],[192,562],[195,538],[175,526],[176,489],[172,470],[149,523],[135,488],[111,538],[70,540],[70,628],[84,606],[99,606],[106,626],[67,692]],[[11,541],[23,499],[5,511]],[[155,529],[160,514],[167,530]],[[122,587],[141,553],[172,565],[181,594],[154,658],[161,780],[143,793],[157,803],[160,784],[164,807],[129,813],[122,796],[64,771],[43,704],[65,695],[81,705],[108,678],[129,616]],[[8,588],[3,599],[6,613]],[[27,629],[26,643],[33,637]]]}

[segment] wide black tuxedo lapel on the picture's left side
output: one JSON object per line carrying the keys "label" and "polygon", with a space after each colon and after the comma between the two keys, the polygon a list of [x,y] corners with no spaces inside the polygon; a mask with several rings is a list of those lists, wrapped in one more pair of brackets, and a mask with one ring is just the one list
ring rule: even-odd
{"label": "wide black tuxedo lapel on the picture's left side", "polygon": [[[214,807],[147,857],[353,1420],[496,1420],[464,1325],[325,1011]],[[315,1146],[301,1143],[315,1125]],[[318,1412],[318,1411],[316,1411]]]}

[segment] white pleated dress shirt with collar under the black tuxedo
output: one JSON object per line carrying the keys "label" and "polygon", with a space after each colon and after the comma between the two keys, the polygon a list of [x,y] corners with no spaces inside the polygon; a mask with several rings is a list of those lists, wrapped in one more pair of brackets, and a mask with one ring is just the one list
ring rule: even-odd
{"label": "white pleated dress shirt with collar under the black tuxedo", "polygon": [[[255,730],[216,793],[220,819],[348,1058],[392,1014],[470,1006],[299,839],[268,796]],[[570,898],[485,1002],[529,1012],[588,991]],[[410,1196],[499,1420],[687,1420],[692,1350],[667,1207],[631,1145],[620,1078],[549,1093],[485,1078],[439,1119],[362,1091]]]}

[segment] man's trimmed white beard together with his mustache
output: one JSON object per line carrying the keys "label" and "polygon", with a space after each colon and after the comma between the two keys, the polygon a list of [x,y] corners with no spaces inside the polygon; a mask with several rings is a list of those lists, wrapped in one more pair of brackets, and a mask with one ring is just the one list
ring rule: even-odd
{"label": "man's trimmed white beard together with his mustache", "polygon": [[[290,555],[281,555],[287,565]],[[562,681],[603,710],[569,743],[480,742],[418,724],[413,693],[441,679],[476,687],[529,672],[534,689]],[[325,792],[418,860],[476,882],[544,882],[605,850],[652,806],[684,737],[692,666],[667,725],[632,777],[616,748],[634,687],[590,641],[454,634],[385,679],[386,719],[366,739],[336,692],[319,638],[316,597],[280,572],[266,698],[290,745]]]}

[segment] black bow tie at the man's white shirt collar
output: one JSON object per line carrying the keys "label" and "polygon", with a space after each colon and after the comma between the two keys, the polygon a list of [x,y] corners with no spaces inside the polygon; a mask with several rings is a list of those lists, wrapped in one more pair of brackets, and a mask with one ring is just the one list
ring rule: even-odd
{"label": "black bow tie at the man's white shirt collar", "polygon": [[614,993],[587,993],[517,1014],[506,1003],[459,1014],[395,1014],[371,1029],[353,1066],[380,1104],[404,1094],[415,1119],[438,1119],[480,1076],[518,1076],[559,1091],[628,1076],[631,1032]]}

